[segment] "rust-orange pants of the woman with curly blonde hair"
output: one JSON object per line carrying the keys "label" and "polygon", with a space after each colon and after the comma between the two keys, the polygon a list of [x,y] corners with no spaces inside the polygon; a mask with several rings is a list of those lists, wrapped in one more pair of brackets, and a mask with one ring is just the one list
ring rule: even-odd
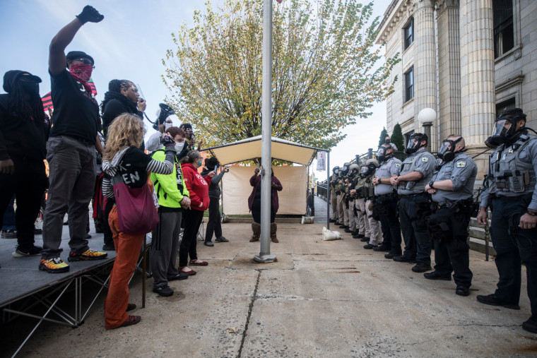
{"label": "rust-orange pants of the woman with curly blonde hair", "polygon": [[113,329],[121,326],[129,317],[126,314],[126,305],[129,303],[129,280],[140,256],[143,235],[126,234],[119,231],[115,205],[108,216],[108,223],[116,247],[116,259],[110,273],[108,295],[105,300],[105,328]]}

